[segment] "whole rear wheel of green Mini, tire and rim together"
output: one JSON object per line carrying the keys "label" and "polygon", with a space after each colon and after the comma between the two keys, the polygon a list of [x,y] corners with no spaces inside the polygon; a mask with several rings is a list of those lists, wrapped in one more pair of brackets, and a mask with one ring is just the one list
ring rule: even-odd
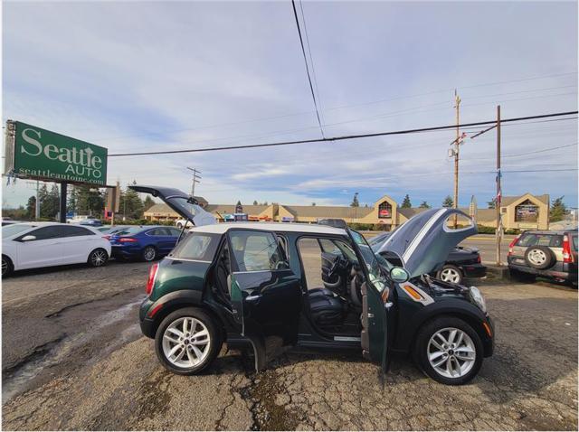
{"label": "whole rear wheel of green Mini, tire and rim together", "polygon": [[157,329],[155,350],[165,368],[193,375],[207,368],[223,340],[214,319],[203,310],[185,307],[166,316]]}

